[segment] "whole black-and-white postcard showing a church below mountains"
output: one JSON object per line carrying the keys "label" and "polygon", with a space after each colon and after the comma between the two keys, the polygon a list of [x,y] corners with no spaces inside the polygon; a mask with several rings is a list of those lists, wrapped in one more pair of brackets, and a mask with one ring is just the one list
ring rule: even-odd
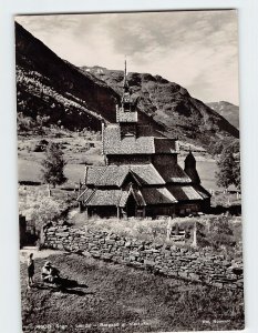
{"label": "whole black-and-white postcard showing a church below mountains", "polygon": [[237,11],[14,21],[23,332],[242,330]]}

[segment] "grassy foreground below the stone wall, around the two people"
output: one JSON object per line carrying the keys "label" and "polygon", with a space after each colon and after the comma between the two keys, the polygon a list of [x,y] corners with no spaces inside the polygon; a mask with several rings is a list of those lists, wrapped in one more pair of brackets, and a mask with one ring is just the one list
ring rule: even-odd
{"label": "grassy foreground below the stone wall, around the two people", "polygon": [[[37,255],[35,255],[37,256]],[[63,287],[40,281],[27,289],[21,263],[23,332],[156,332],[242,329],[242,294],[156,276],[76,254],[49,259]]]}

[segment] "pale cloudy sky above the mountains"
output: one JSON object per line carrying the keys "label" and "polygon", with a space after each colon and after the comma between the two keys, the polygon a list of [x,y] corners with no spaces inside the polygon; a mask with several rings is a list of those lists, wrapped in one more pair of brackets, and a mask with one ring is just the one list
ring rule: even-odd
{"label": "pale cloudy sky above the mountains", "polygon": [[23,16],[16,20],[61,58],[161,74],[203,100],[238,104],[237,12]]}

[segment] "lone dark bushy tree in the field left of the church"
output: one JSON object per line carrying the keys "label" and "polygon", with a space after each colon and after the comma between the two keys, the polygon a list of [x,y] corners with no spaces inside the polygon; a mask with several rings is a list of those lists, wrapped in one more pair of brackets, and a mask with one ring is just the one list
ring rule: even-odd
{"label": "lone dark bushy tree in the field left of the church", "polygon": [[45,159],[41,162],[41,178],[44,183],[61,185],[66,181],[63,169],[66,162],[63,159],[63,152],[58,143],[50,143],[45,151]]}

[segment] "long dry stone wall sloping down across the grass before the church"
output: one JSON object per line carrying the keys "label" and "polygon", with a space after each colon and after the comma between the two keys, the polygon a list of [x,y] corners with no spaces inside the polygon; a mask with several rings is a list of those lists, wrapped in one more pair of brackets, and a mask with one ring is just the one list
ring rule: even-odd
{"label": "long dry stone wall sloping down across the grass before the church", "polygon": [[91,254],[95,259],[148,270],[156,274],[184,279],[218,287],[242,289],[242,265],[224,255],[200,250],[125,239],[85,228],[50,226],[43,231],[43,246]]}

